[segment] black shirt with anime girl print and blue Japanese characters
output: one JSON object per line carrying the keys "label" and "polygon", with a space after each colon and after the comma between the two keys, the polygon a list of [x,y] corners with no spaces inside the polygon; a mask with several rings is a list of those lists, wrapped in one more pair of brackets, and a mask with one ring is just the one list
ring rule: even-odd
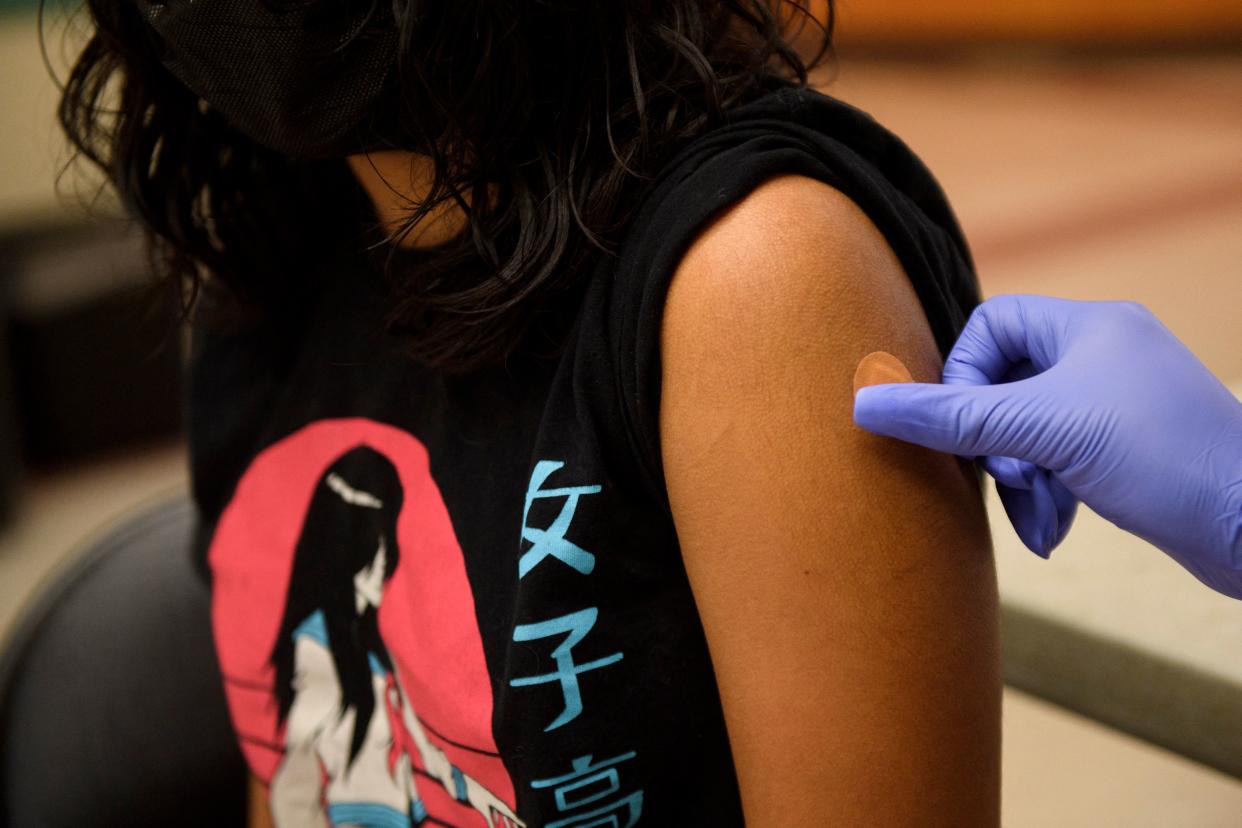
{"label": "black shirt with anime girl print and blue Japanese characters", "polygon": [[781,174],[861,206],[946,354],[979,295],[940,187],[869,117],[794,88],[666,166],[554,360],[412,364],[365,257],[294,341],[196,325],[199,554],[278,824],[741,824],[661,469],[658,344],[696,233]]}

